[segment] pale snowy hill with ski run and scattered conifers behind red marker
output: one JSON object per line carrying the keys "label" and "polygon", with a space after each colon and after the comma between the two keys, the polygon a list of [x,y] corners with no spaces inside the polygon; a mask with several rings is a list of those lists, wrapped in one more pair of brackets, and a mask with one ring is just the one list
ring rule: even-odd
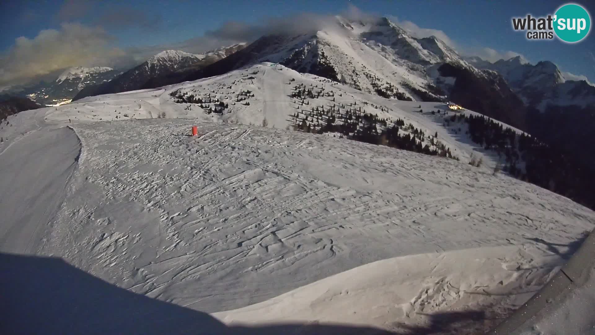
{"label": "pale snowy hill with ski run and scattered conifers behind red marker", "polygon": [[[290,115],[299,110],[309,110],[311,107],[329,107],[333,104],[357,104],[362,111],[378,114],[392,119],[401,118],[406,124],[411,123],[425,134],[438,134],[437,139],[450,148],[453,155],[461,162],[469,162],[471,155],[483,158],[486,168],[493,167],[498,157],[491,152],[485,152],[481,145],[469,141],[464,134],[455,134],[460,125],[451,128],[443,126],[444,114],[431,114],[430,111],[449,111],[445,104],[424,103],[419,101],[388,100],[374,94],[367,94],[340,83],[331,82],[322,77],[301,74],[280,65],[270,66],[262,63],[245,69],[236,70],[226,75],[211,77],[195,82],[186,82],[165,86],[158,89],[123,92],[120,94],[102,95],[79,100],[76,103],[59,108],[49,108],[48,120],[64,122],[89,122],[99,120],[145,119],[156,118],[160,112],[165,112],[167,118],[191,118],[202,121],[211,120],[224,123],[242,123],[245,125],[261,125],[267,119],[268,127],[286,129],[290,125]],[[295,81],[290,81],[294,79]],[[324,88],[324,92],[335,92],[334,101],[330,97],[321,96],[308,101],[308,105],[300,105],[289,95],[296,85],[305,85],[314,91]],[[229,107],[222,115],[205,114],[196,104],[177,104],[170,96],[173,91],[193,94],[198,97],[220,98],[229,103]],[[253,97],[245,101],[234,102],[236,94],[250,91]],[[342,94],[342,96],[337,95]],[[248,101],[249,105],[244,103]],[[215,104],[213,103],[212,106]],[[372,106],[374,105],[374,106]],[[190,110],[185,108],[190,106]],[[52,111],[54,109],[54,111]],[[419,110],[424,113],[419,113]],[[472,111],[462,111],[466,114],[477,114]],[[127,114],[129,117],[124,117]],[[508,126],[508,125],[506,125]],[[512,128],[512,127],[511,127]],[[518,131],[518,130],[517,130]],[[520,132],[520,131],[518,131]]]}

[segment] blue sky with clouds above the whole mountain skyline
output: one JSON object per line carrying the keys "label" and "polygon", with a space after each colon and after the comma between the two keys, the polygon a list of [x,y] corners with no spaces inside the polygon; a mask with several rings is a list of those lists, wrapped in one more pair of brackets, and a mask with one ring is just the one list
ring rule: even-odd
{"label": "blue sky with clouds above the whole mountain skyline", "polygon": [[[531,63],[550,60],[564,72],[584,75],[595,82],[595,34],[591,33],[578,44],[565,44],[557,40],[527,41],[524,33],[512,30],[511,17],[522,17],[528,13],[536,16],[553,14],[565,3],[547,0],[145,0],[123,4],[111,0],[5,0],[0,4],[0,57],[4,58],[0,60],[5,64],[15,62],[13,68],[23,67],[26,73],[35,72],[27,69],[27,62],[31,63],[29,67],[36,67],[35,62],[46,62],[55,69],[65,62],[83,66],[109,65],[99,64],[108,58],[112,62],[115,59],[130,63],[142,60],[159,48],[177,46],[189,52],[208,48],[217,43],[212,37],[207,42],[203,38],[205,32],[218,30],[230,21],[250,27],[262,25],[270,18],[290,17],[303,12],[336,15],[355,6],[364,13],[396,18],[400,24],[421,35],[436,33],[439,37],[447,36],[462,54],[477,54],[491,60],[522,54]],[[583,5],[591,15],[595,14],[592,1],[575,3]],[[64,23],[70,25],[64,26]],[[55,31],[40,33],[47,29]],[[26,39],[20,40],[18,47],[21,49],[17,56],[15,39],[20,36]],[[77,42],[77,39],[81,41]],[[60,44],[64,45],[60,47]],[[82,49],[89,50],[85,54]],[[37,55],[27,52],[36,52]],[[77,57],[80,57],[78,61]],[[43,67],[43,64],[37,64],[37,67]],[[0,76],[2,71],[0,64]],[[4,69],[6,72],[7,69]]]}

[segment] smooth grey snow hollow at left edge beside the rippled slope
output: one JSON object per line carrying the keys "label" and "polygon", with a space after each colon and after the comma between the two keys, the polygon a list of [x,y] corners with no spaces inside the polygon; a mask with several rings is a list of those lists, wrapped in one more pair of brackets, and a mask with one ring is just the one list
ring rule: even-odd
{"label": "smooth grey snow hollow at left edge beside the rippled slope", "polygon": [[42,128],[2,151],[1,252],[38,251],[79,164],[81,148],[73,129]]}

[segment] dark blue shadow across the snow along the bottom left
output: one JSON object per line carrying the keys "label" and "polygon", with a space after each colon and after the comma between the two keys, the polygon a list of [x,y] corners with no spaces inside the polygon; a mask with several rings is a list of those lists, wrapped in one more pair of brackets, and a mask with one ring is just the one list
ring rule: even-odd
{"label": "dark blue shadow across the snow along the bottom left", "polygon": [[205,312],[121,289],[61,258],[0,253],[0,333],[3,334],[430,334],[483,312],[429,315],[428,327],[403,331],[313,323],[228,326]]}

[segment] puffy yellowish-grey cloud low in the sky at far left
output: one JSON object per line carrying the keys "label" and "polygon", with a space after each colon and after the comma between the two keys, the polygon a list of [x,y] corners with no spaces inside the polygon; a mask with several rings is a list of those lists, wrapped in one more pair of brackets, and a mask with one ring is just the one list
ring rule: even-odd
{"label": "puffy yellowish-grey cloud low in the sky at far left", "polygon": [[63,23],[60,29],[41,30],[33,39],[19,37],[0,55],[0,86],[14,85],[72,66],[105,65],[122,57],[112,48],[105,30]]}

